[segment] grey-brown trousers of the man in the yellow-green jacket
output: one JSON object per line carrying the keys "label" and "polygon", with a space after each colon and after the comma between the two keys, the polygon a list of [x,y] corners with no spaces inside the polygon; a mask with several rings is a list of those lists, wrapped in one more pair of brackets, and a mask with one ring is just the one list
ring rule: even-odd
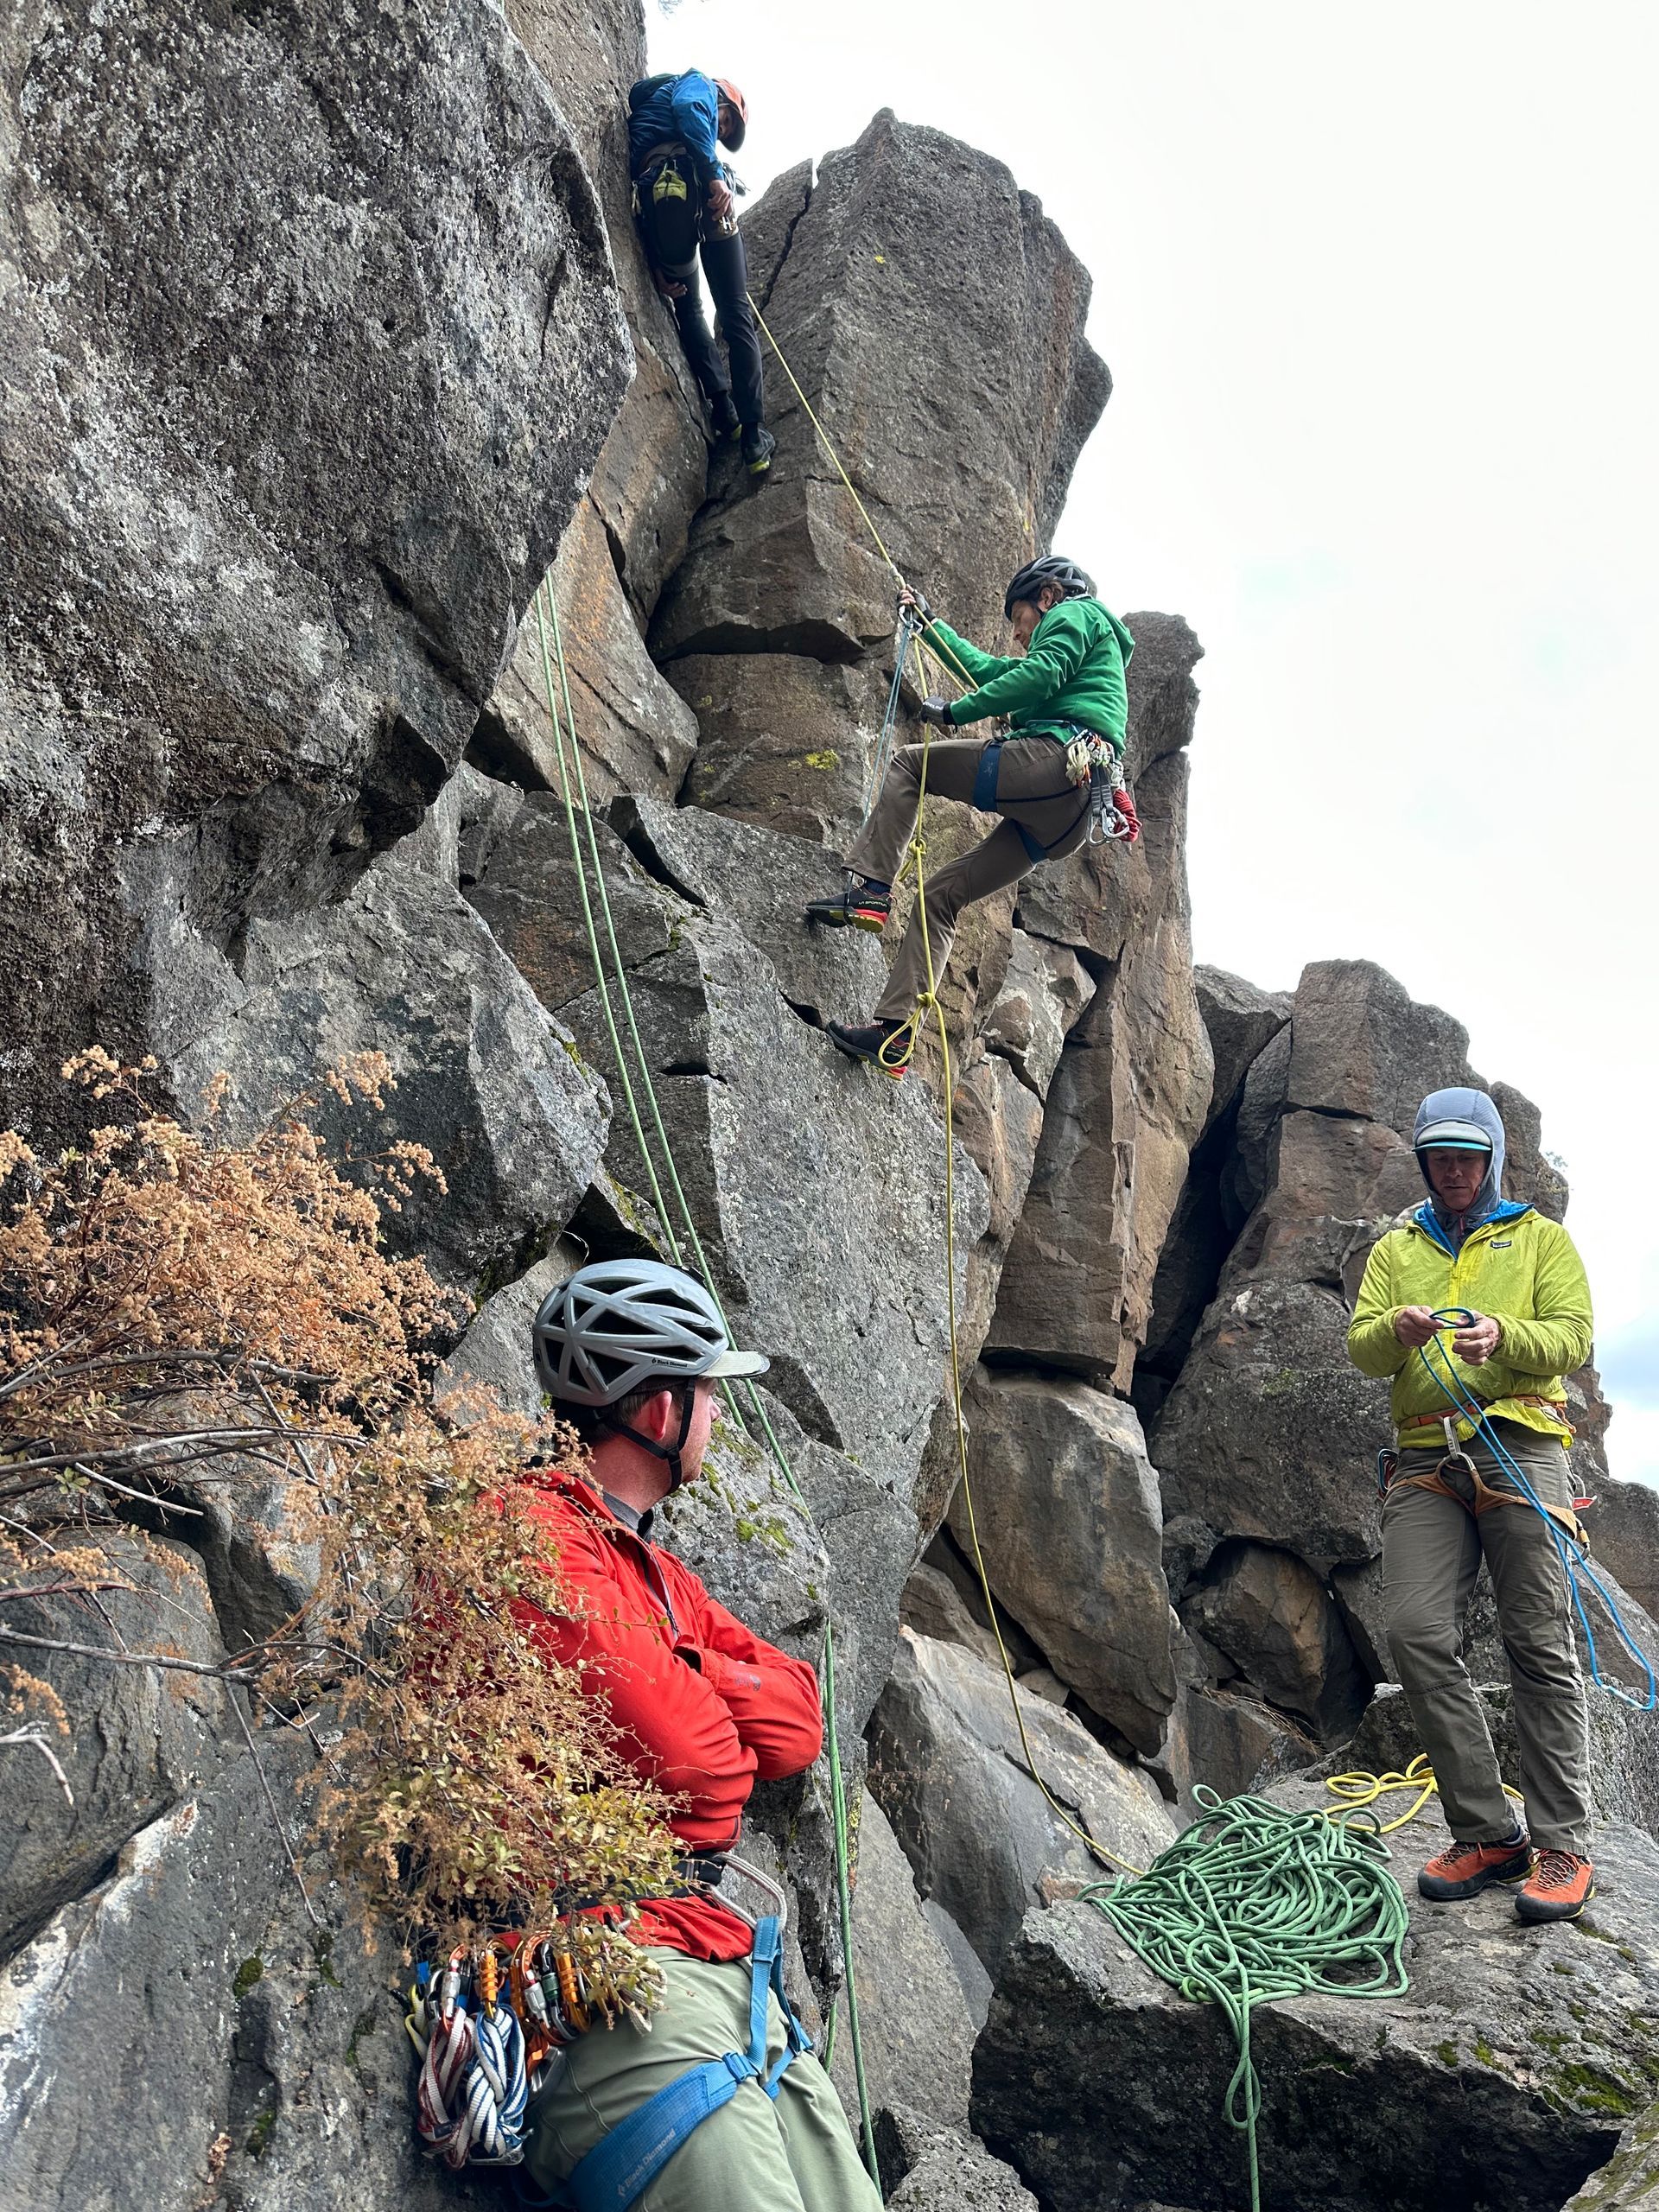
{"label": "grey-brown trousers of the man in the yellow-green jacket", "polygon": [[[1515,1420],[1495,1420],[1493,1429],[1537,1495],[1571,1506],[1557,1438]],[[1464,1449],[1484,1482],[1513,1489],[1486,1444]],[[1436,1458],[1402,1451],[1383,1500],[1383,1604],[1447,1825],[1460,1843],[1500,1843],[1515,1829],[1515,1805],[1504,1796],[1486,1714],[1462,1661],[1462,1617],[1484,1557],[1515,1699],[1526,1827],[1540,1847],[1588,1856],[1588,1714],[1566,1571],[1533,1506],[1495,1504],[1475,1517],[1455,1498],[1402,1480],[1413,1462],[1427,1473]]]}

